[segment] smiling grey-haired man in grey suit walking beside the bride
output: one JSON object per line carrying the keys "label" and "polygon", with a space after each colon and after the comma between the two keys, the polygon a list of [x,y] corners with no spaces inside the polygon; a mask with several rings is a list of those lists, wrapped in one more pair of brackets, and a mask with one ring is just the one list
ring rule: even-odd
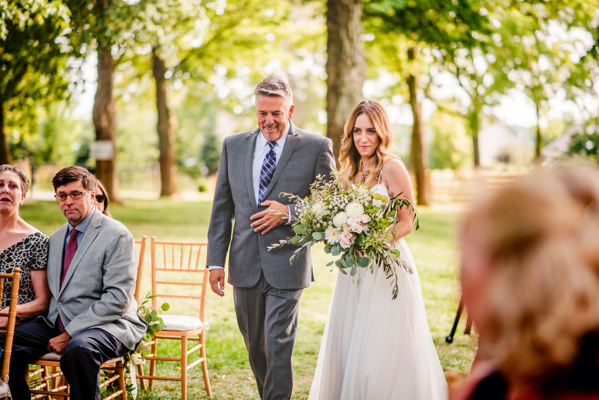
{"label": "smiling grey-haired man in grey suit walking beside the bride", "polygon": [[224,296],[223,268],[230,246],[228,282],[258,392],[263,400],[283,400],[291,398],[299,297],[310,286],[312,263],[309,249],[293,264],[289,258],[297,247],[268,251],[294,234],[286,218],[268,209],[297,215],[295,204],[279,193],[308,196],[316,176],[328,176],[335,160],[330,139],[292,124],[288,83],[269,76],[254,93],[258,128],[223,141],[207,266],[212,290]]}

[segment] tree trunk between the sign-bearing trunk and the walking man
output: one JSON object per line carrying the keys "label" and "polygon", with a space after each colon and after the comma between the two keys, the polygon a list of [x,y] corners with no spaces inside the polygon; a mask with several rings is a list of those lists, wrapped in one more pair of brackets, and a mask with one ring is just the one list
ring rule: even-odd
{"label": "tree trunk between the sign-bearing trunk and the walking man", "polygon": [[[167,104],[167,82],[164,73],[167,68],[160,58],[159,50],[152,51],[153,74],[156,80],[156,109],[158,109],[158,137],[160,141],[160,196],[173,196],[177,193],[177,166],[175,164],[176,117],[171,116]],[[172,119],[171,119],[172,118]]]}

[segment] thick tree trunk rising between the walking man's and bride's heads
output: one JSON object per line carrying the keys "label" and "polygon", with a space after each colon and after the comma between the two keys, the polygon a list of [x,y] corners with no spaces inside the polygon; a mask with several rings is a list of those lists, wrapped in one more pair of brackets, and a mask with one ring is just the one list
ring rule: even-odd
{"label": "thick tree trunk rising between the walking man's and bride's heads", "polygon": [[362,33],[362,0],[328,0],[326,62],[326,134],[333,142],[337,166],[343,125],[362,100],[366,74]]}

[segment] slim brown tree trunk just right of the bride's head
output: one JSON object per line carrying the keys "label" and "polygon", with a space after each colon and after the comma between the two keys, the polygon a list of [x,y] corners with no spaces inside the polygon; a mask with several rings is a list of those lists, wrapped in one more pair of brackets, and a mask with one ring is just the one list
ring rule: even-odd
{"label": "slim brown tree trunk just right of the bride's head", "polygon": [[[408,58],[415,59],[415,50],[408,50]],[[408,87],[410,89],[410,106],[412,106],[412,114],[414,115],[414,125],[412,128],[412,146],[410,149],[410,166],[412,166],[416,175],[416,203],[427,205],[428,185],[426,182],[426,169],[428,169],[428,160],[426,158],[426,148],[424,145],[424,137],[422,132],[422,112],[420,111],[420,102],[418,101],[418,79],[414,74],[410,74],[407,78]]]}

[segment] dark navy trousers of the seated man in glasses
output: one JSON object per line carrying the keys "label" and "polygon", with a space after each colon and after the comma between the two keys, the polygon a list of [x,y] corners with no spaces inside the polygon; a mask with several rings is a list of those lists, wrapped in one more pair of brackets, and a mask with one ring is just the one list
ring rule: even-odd
{"label": "dark navy trousers of the seated man in glasses", "polygon": [[[10,386],[14,400],[30,400],[25,371],[29,362],[48,353],[48,341],[60,335],[58,327],[31,321],[14,327],[10,357]],[[0,338],[4,345],[4,336]],[[71,386],[71,400],[100,400],[100,366],[129,351],[119,339],[102,329],[87,329],[72,338],[60,356],[60,369]]]}

